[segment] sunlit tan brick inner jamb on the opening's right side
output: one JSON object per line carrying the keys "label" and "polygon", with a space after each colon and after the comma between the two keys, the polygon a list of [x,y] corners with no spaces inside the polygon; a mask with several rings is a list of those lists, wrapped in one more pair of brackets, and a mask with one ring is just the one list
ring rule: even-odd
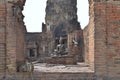
{"label": "sunlit tan brick inner jamb on the opening's right side", "polygon": [[[89,25],[92,25],[92,23],[93,23],[92,21],[94,19],[94,17],[92,17],[94,15],[94,13],[93,13],[94,10],[93,10],[93,8],[91,8],[91,7],[93,7],[93,1],[92,0],[89,0],[89,5],[90,5],[89,6],[90,7],[89,15],[90,15],[90,19],[91,19],[91,22],[89,22]],[[90,29],[88,29],[88,28],[93,30],[94,27],[93,27],[93,25],[90,26],[90,27],[87,26],[85,28],[86,31],[84,31],[84,35],[86,36],[85,38],[87,38],[87,39],[85,39],[85,41],[86,41],[86,44],[85,44],[85,50],[86,50],[85,51],[85,63],[90,64],[92,70],[94,70],[94,54],[93,54],[94,53],[94,40],[93,40],[94,37],[93,36],[91,38],[89,37],[90,35],[94,35],[94,34],[93,34],[93,32],[90,32]],[[89,55],[91,55],[91,56],[89,56]]]}

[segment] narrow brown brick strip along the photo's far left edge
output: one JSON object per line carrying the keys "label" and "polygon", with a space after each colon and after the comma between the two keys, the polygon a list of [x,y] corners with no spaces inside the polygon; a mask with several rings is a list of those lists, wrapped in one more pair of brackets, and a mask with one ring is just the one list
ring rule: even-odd
{"label": "narrow brown brick strip along the photo's far left edge", "polygon": [[0,77],[3,77],[5,72],[5,5],[4,0],[0,1]]}

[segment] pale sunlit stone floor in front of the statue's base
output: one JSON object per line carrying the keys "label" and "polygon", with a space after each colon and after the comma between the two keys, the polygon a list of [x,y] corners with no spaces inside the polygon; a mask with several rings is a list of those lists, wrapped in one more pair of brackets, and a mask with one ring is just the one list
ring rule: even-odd
{"label": "pale sunlit stone floor in front of the statue's base", "polygon": [[35,72],[93,72],[90,70],[89,66],[84,63],[79,63],[77,65],[62,65],[62,64],[46,64],[37,63],[34,64]]}

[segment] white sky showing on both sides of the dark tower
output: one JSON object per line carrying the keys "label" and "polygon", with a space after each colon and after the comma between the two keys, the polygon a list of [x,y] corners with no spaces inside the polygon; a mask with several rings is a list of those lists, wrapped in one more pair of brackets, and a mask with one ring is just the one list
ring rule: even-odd
{"label": "white sky showing on both sides of the dark tower", "polygon": [[[45,7],[47,0],[26,0],[23,15],[28,32],[41,32],[42,22],[45,22]],[[77,0],[78,21],[83,29],[89,21],[88,0]]]}

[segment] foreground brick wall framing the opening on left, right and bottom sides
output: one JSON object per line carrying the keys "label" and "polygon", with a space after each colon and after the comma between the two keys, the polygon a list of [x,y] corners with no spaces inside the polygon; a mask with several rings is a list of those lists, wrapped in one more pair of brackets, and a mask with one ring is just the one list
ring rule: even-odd
{"label": "foreground brick wall framing the opening on left, right and bottom sides", "polygon": [[[86,55],[88,57],[88,60],[86,59],[86,62],[90,64],[90,68],[95,72],[94,73],[88,72],[89,74],[84,72],[80,74],[79,73],[78,74],[45,73],[45,75],[47,75],[47,78],[56,79],[56,78],[62,78],[61,76],[64,76],[65,78],[62,78],[63,80],[68,77],[71,80],[84,79],[84,78],[101,79],[101,80],[120,79],[119,77],[120,74],[120,70],[119,70],[120,67],[119,64],[120,63],[120,53],[119,53],[120,52],[119,50],[120,8],[119,7],[120,5],[119,3],[120,3],[119,0],[107,0],[107,1],[89,0],[90,22],[88,26],[84,29],[84,37],[86,41],[85,48],[87,48],[86,52],[88,53],[88,55]],[[0,77],[6,77],[5,71],[7,71],[7,74],[14,77],[16,73],[16,62],[24,61],[24,58],[21,58],[21,60],[17,59],[18,57],[21,57],[21,55],[18,56],[18,53],[16,53],[17,49],[15,48],[18,47],[18,43],[19,45],[21,45],[20,43],[21,41],[23,41],[20,40],[21,38],[18,38],[17,36],[19,36],[22,30],[24,29],[22,27],[23,25],[19,26],[22,27],[22,29],[18,28],[17,24],[21,24],[21,20],[20,23],[18,23],[19,21],[18,18],[15,18],[15,21],[13,19],[13,15],[12,15],[13,13],[12,8],[14,7],[13,4],[9,4],[9,3],[6,4],[7,12],[10,13],[7,14],[7,16],[3,15],[6,13],[4,1],[1,0],[0,4],[1,4],[0,6],[2,6],[0,7],[0,21],[3,22],[2,24],[0,24],[0,33],[1,33],[0,60],[2,62],[0,65],[0,69],[1,69]],[[13,26],[14,22],[16,27]],[[20,29],[21,31],[18,32],[17,30]],[[24,42],[22,43],[24,44]],[[7,54],[7,56],[5,54]],[[38,77],[40,78],[41,76],[42,79],[46,79],[46,76],[43,76],[43,74],[38,75],[37,73],[37,75],[35,75],[35,77],[37,78]]]}

